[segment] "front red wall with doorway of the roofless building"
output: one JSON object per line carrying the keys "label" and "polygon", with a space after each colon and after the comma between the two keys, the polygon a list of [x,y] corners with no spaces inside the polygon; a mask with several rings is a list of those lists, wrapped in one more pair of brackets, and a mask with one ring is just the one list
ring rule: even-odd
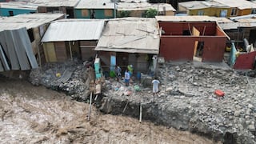
{"label": "front red wall with doorway of the roofless building", "polygon": [[226,37],[162,36],[159,55],[166,61],[192,61],[195,41],[204,42],[202,62],[222,62]]}

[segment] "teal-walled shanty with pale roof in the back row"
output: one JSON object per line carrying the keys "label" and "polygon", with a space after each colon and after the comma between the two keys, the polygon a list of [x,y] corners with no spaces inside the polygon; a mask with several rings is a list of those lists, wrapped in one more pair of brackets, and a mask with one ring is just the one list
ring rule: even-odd
{"label": "teal-walled shanty with pale roof in the back row", "polygon": [[114,18],[114,2],[110,0],[81,0],[74,7],[75,18]]}

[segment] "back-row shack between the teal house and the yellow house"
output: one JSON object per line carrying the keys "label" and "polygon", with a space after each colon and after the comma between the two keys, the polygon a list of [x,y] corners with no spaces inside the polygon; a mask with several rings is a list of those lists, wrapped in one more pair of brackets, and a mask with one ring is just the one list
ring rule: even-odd
{"label": "back-row shack between the teal house and the yellow house", "polygon": [[118,2],[118,17],[146,17],[146,10],[155,9],[158,15],[174,15],[175,9],[168,3]]}

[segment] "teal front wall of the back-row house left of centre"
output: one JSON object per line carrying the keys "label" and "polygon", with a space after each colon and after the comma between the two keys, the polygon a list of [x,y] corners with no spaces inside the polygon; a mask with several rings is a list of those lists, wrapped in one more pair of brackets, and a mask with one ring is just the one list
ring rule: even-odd
{"label": "teal front wall of the back-row house left of centre", "polygon": [[[86,9],[84,9],[86,10]],[[103,19],[103,18],[114,18],[114,10],[112,10],[111,16],[106,16],[103,9],[94,10],[95,18]],[[90,18],[90,10],[87,10],[87,16],[82,16],[82,9],[74,9],[74,18]]]}

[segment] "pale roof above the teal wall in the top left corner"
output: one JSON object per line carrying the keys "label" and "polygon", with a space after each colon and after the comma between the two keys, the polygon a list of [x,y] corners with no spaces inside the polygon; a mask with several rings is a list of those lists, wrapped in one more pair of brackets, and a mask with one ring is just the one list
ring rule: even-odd
{"label": "pale roof above the teal wall in the top left corner", "polygon": [[38,10],[38,6],[26,2],[1,2],[0,8]]}

